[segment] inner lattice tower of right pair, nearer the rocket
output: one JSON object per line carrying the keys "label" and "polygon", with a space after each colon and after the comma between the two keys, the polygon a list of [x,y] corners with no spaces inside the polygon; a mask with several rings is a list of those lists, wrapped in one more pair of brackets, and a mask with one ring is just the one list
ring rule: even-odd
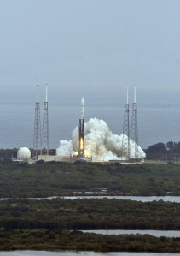
{"label": "inner lattice tower of right pair, nearer the rocket", "polygon": [[123,125],[123,139],[122,139],[122,157],[126,160],[130,159],[130,109],[128,102],[128,86],[126,86],[127,98],[125,103],[124,125]]}

